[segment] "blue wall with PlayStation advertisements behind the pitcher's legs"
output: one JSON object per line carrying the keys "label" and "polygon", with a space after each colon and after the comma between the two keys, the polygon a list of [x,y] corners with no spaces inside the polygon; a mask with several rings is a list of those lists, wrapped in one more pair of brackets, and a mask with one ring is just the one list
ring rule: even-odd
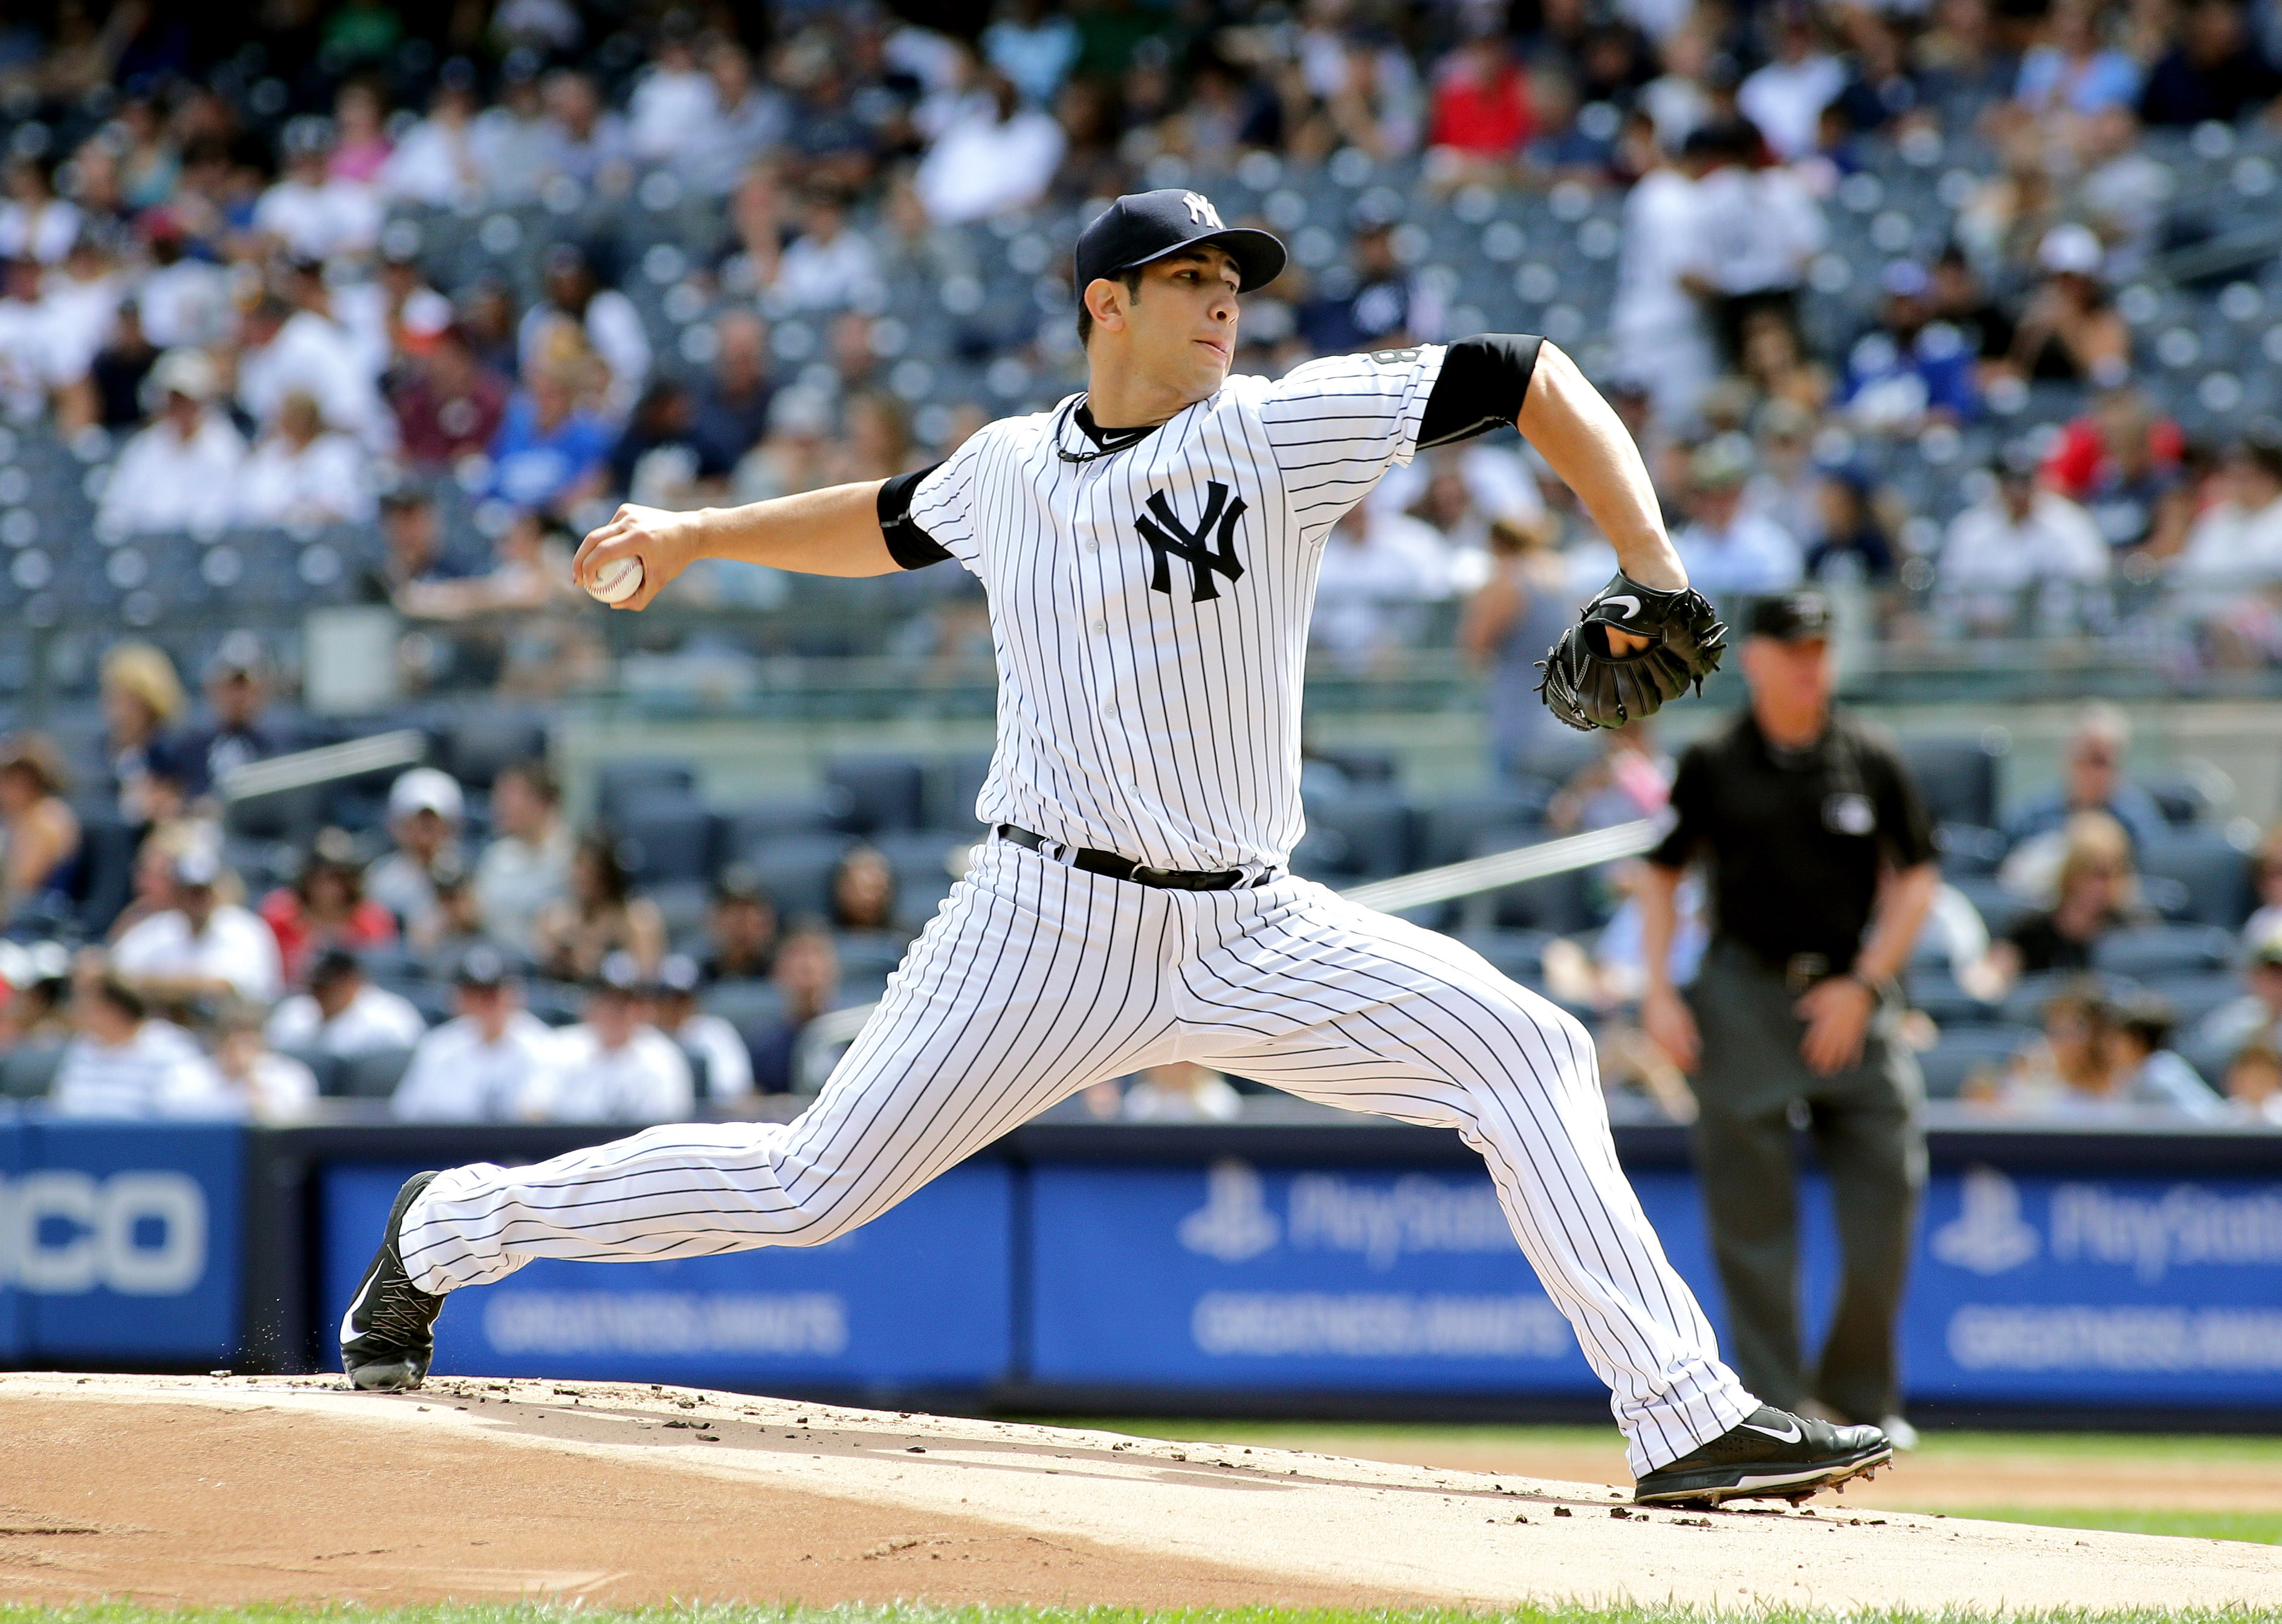
{"label": "blue wall with PlayStation advertisements behind the pitcher's legs", "polygon": [[[249,1277],[262,1293],[258,1264],[285,1241],[308,1259],[272,1270],[304,1298],[288,1318],[329,1362],[397,1184],[468,1145],[397,1131],[365,1154],[335,1129],[292,1163],[288,1216],[251,1223],[260,1138],[0,1118],[0,1364],[233,1364],[249,1312],[281,1312],[240,1298]],[[2163,1166],[2193,1163],[2186,1150]],[[1903,1314],[1915,1398],[2282,1412],[2282,1175],[2266,1172],[2282,1159],[2195,1177],[1997,1161],[1951,1159],[1926,1191]],[[1696,1182],[1650,1163],[1634,1188],[1718,1325]],[[1812,1175],[1803,1216],[1814,1327],[1837,1257]],[[1449,1154],[1310,1163],[1289,1145],[1132,1166],[1018,1143],[812,1250],[541,1259],[454,1302],[438,1369],[869,1394],[1600,1391],[1486,1175]]]}

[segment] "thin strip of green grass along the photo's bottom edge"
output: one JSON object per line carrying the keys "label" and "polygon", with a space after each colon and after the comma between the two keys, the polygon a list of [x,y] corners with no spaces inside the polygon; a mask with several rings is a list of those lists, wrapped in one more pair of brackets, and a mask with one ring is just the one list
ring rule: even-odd
{"label": "thin strip of green grass along the photo's bottom edge", "polygon": [[1794,1606],[1522,1606],[1499,1613],[1349,1613],[1330,1608],[938,1608],[926,1603],[774,1608],[559,1608],[534,1603],[431,1603],[413,1608],[144,1608],[96,1603],[25,1608],[0,1603],[0,1624],[2273,1624],[2273,1608],[2056,1608],[1985,1613],[1978,1608],[1864,1608],[1828,1613]]}

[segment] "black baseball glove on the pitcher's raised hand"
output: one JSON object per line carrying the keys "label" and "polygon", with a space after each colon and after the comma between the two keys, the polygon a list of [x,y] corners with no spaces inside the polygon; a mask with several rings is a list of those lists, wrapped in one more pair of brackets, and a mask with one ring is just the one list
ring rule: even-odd
{"label": "black baseball glove on the pitcher's raised hand", "polygon": [[[1609,630],[1645,636],[1648,648],[1618,655],[1609,648]],[[1545,673],[1538,696],[1579,732],[1623,728],[1654,716],[1691,687],[1700,693],[1725,648],[1727,627],[1702,593],[1659,593],[1620,570],[1538,661]]]}

